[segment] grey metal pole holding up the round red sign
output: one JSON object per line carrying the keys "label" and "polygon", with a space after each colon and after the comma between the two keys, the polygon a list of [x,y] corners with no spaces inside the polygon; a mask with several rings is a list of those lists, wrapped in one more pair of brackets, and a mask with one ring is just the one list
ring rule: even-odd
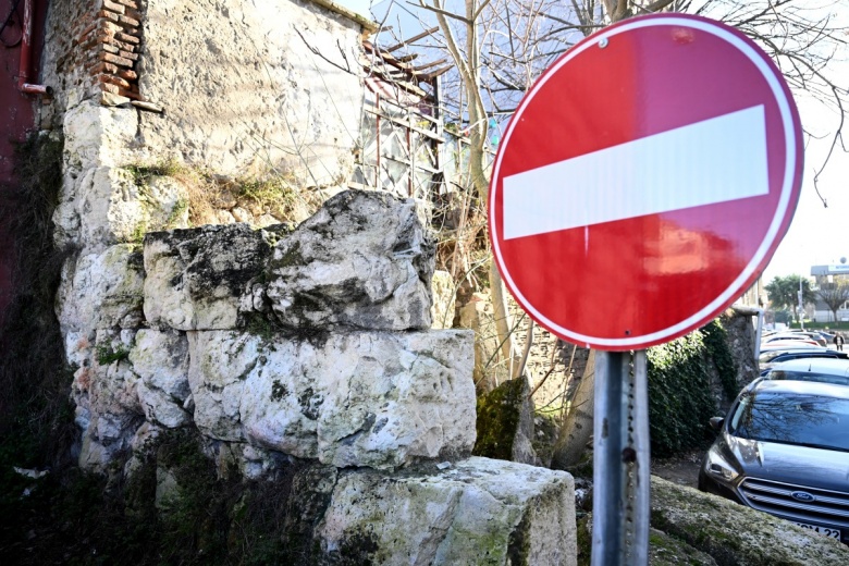
{"label": "grey metal pole holding up the round red sign", "polygon": [[649,564],[645,350],[595,353],[593,566]]}

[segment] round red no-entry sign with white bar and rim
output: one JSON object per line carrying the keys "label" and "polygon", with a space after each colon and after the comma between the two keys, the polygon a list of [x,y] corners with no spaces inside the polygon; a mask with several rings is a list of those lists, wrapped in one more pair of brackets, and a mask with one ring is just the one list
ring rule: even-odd
{"label": "round red no-entry sign with white bar and rim", "polygon": [[564,340],[670,341],[768,263],[802,151],[780,72],[742,34],[681,14],[620,22],[558,59],[510,120],[490,186],[495,260]]}

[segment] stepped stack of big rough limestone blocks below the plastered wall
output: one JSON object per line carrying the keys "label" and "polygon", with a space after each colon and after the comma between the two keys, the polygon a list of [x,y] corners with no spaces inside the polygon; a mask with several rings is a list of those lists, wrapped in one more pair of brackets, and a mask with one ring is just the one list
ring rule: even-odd
{"label": "stepped stack of big rough limestone blocks below the plastered wall", "polygon": [[[197,427],[222,473],[335,470],[309,534],[328,559],[368,540],[381,564],[574,564],[570,476],[469,457],[475,337],[430,329],[426,226],[411,199],[349,192],[295,230],[148,233],[143,264],[130,244],[82,256],[58,304],[81,466],[133,473],[152,439]],[[157,478],[164,513],[181,487]]]}

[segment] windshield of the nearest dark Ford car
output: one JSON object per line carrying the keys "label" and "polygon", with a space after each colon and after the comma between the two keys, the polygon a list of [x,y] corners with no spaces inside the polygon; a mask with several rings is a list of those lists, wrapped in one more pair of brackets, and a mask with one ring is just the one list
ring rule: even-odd
{"label": "windshield of the nearest dark Ford car", "polygon": [[743,394],[728,430],[735,436],[849,452],[849,399],[808,394]]}

